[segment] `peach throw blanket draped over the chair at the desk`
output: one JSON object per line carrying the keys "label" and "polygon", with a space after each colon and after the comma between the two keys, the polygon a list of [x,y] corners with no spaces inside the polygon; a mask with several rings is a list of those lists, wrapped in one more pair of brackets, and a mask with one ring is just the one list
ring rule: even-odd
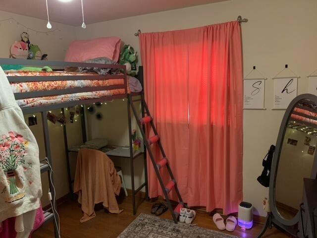
{"label": "peach throw blanket draped over the chair at the desk", "polygon": [[84,216],[80,222],[87,222],[96,216],[94,206],[103,203],[110,213],[120,213],[115,194],[119,195],[121,179],[113,162],[98,150],[80,149],[78,152],[74,192]]}

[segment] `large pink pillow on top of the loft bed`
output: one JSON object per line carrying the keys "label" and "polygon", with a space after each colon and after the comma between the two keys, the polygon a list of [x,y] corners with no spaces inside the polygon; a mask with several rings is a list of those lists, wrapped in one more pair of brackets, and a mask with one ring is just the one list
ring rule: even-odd
{"label": "large pink pillow on top of the loft bed", "polygon": [[99,57],[118,61],[120,46],[121,39],[118,37],[73,41],[66,52],[65,61],[83,62]]}

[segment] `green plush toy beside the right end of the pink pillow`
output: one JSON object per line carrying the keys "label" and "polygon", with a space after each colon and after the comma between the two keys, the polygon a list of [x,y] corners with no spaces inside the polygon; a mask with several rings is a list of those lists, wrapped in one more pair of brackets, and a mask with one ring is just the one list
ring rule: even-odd
{"label": "green plush toy beside the right end of the pink pillow", "polygon": [[119,63],[126,65],[128,75],[135,76],[137,74],[138,56],[132,46],[124,45],[120,53]]}

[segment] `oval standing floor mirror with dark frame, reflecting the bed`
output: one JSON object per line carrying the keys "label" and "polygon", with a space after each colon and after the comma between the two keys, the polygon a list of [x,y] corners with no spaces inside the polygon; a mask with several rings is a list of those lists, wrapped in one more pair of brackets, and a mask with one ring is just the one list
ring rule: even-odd
{"label": "oval standing floor mirror with dark frame, reflecting the bed", "polygon": [[[262,237],[274,225],[294,237],[316,238],[317,96],[297,96],[282,120],[272,160],[269,205]],[[314,201],[315,199],[315,201]]]}

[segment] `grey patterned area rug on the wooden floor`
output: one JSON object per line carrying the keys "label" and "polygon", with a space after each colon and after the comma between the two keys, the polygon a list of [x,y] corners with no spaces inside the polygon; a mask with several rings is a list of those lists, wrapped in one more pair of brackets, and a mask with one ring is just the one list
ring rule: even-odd
{"label": "grey patterned area rug on the wooden floor", "polygon": [[[211,221],[212,222],[212,221]],[[118,238],[237,238],[157,216],[140,214]]]}

